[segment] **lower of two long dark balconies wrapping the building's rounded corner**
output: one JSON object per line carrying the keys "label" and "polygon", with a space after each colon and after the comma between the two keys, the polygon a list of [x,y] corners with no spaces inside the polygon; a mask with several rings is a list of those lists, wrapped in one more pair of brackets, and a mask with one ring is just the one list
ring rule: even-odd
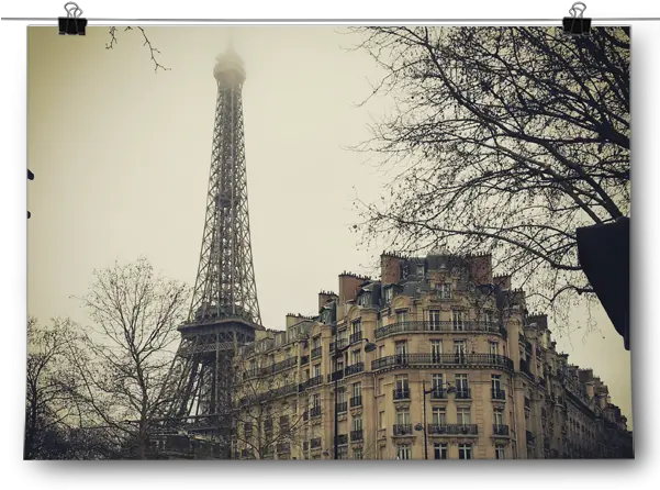
{"label": "lower of two long dark balconies wrapping the building's rounded corner", "polygon": [[513,371],[513,361],[497,354],[402,354],[371,361],[371,370],[407,367],[483,367]]}

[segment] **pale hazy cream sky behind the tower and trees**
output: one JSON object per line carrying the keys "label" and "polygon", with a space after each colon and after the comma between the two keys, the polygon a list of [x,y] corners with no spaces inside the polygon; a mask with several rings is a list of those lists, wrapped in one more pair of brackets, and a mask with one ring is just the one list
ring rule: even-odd
{"label": "pale hazy cream sky behind the tower and trees", "polygon": [[[71,294],[94,268],[146,256],[165,275],[194,283],[204,221],[215,56],[226,26],[145,27],[159,62],[154,73],[137,30],[108,27],[60,36],[29,30],[27,307],[42,321],[87,322]],[[253,255],[261,319],[282,328],[288,312],[315,314],[316,293],[344,270],[368,272],[372,256],[349,226],[356,190],[379,196],[383,180],[365,154],[343,147],[369,137],[370,114],[387,109],[367,79],[379,71],[340,27],[233,27],[245,60],[246,159]],[[359,249],[358,249],[359,248]],[[504,272],[504,271],[500,271]],[[585,312],[557,337],[570,360],[609,386],[631,426],[630,357],[606,314],[583,339]],[[603,337],[604,336],[604,337]],[[583,342],[584,341],[584,342]]]}

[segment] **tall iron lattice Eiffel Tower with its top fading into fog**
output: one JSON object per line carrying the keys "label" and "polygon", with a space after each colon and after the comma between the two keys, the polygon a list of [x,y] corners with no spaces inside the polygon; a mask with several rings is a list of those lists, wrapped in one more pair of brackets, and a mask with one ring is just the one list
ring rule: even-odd
{"label": "tall iron lattice Eiffel Tower with its top fading into fog", "polygon": [[[217,81],[206,219],[188,321],[169,375],[167,419],[220,442],[230,457],[233,358],[264,330],[257,301],[247,203],[243,60],[232,44],[216,58]],[[172,386],[174,383],[174,386]]]}

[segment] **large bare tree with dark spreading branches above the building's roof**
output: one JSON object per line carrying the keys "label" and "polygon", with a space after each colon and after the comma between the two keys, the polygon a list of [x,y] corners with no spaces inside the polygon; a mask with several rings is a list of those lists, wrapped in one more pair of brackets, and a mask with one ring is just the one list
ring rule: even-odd
{"label": "large bare tree with dark spreading branches above the building's roof", "polygon": [[373,94],[394,102],[354,148],[394,172],[380,203],[356,200],[355,229],[403,252],[492,253],[534,307],[593,298],[575,229],[629,212],[628,31],[355,31],[384,70]]}

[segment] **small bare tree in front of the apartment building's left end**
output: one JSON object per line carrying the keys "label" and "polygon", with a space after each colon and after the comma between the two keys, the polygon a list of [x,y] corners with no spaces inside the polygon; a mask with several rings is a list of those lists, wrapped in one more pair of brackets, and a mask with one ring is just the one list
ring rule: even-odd
{"label": "small bare tree in front of the apartment building's left end", "polygon": [[276,364],[266,355],[237,356],[234,433],[238,456],[271,459],[277,453],[282,459],[303,447],[309,413],[306,407],[298,407],[293,361],[295,357]]}

